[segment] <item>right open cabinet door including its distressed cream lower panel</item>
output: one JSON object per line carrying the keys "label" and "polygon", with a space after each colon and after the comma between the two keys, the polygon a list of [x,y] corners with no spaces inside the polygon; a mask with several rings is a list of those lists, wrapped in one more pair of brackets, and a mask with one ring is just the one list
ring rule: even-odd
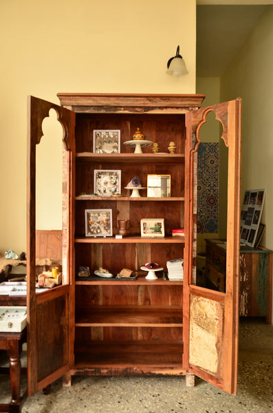
{"label": "right open cabinet door including its distressed cream lower panel", "polygon": [[[226,293],[195,285],[196,156],[199,131],[208,112],[223,126],[228,147]],[[241,171],[241,99],[186,114],[184,256],[184,368],[221,390],[237,394],[239,324],[239,232]]]}

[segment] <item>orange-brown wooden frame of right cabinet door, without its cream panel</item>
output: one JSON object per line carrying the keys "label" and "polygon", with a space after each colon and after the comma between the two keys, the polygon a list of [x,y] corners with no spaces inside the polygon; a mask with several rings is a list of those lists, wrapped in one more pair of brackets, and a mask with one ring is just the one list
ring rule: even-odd
{"label": "orange-brown wooden frame of right cabinet door, without its cream panel", "polygon": [[[222,138],[228,146],[228,218],[226,253],[226,291],[219,293],[193,285],[193,242],[196,236],[194,194],[194,153],[200,142],[199,131],[206,122],[208,112],[215,112],[223,125]],[[185,233],[188,242],[184,255],[184,368],[232,394],[237,393],[238,328],[239,328],[239,232],[241,187],[241,99],[204,107],[186,114],[185,175]],[[190,366],[190,297],[192,295],[215,300],[224,306],[222,380],[196,366]]]}

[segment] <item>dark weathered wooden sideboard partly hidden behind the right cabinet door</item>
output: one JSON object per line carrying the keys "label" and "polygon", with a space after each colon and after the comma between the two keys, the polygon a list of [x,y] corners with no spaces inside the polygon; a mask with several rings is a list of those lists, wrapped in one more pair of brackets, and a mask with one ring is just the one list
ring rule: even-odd
{"label": "dark weathered wooden sideboard partly hidden behind the right cabinet door", "polygon": [[[272,254],[267,248],[240,248],[241,317],[266,317],[272,321]],[[226,292],[226,243],[206,240],[206,286]]]}

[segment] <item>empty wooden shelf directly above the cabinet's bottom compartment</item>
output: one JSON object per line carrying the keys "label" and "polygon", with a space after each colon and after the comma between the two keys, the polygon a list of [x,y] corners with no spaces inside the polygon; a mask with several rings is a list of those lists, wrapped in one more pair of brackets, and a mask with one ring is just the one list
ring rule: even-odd
{"label": "empty wooden shelf directly above the cabinet's bottom compartment", "polygon": [[76,310],[76,327],[182,327],[181,307],[93,306]]}

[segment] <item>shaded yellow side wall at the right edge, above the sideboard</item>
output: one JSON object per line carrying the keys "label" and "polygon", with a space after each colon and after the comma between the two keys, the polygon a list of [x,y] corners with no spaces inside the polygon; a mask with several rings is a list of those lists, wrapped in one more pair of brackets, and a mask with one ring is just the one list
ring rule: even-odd
{"label": "shaded yellow side wall at the right edge, above the sideboard", "polygon": [[265,188],[261,244],[273,249],[273,6],[221,77],[221,100],[241,96],[242,196],[246,189]]}

